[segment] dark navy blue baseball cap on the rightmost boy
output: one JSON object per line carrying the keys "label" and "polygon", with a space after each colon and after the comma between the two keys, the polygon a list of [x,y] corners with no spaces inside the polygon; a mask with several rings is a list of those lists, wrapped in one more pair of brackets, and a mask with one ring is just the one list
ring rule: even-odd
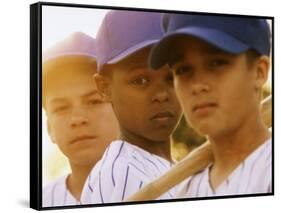
{"label": "dark navy blue baseball cap on the rightmost boy", "polygon": [[251,17],[165,14],[162,17],[165,36],[153,48],[149,63],[152,69],[169,64],[176,50],[177,36],[193,36],[223,51],[240,54],[253,49],[261,55],[270,53],[270,28],[266,19]]}

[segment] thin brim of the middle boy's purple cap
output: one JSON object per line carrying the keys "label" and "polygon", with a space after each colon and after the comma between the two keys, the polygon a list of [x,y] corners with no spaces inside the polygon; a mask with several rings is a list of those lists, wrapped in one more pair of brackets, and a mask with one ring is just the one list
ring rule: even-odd
{"label": "thin brim of the middle boy's purple cap", "polygon": [[135,52],[146,48],[150,45],[153,45],[155,43],[157,43],[159,41],[159,39],[153,39],[153,40],[147,40],[141,43],[136,44],[135,46],[132,46],[130,48],[128,48],[127,50],[123,51],[122,53],[120,53],[119,55],[115,56],[114,58],[110,59],[108,62],[106,62],[107,64],[115,64],[118,63],[119,61],[127,58],[128,56],[134,54]]}

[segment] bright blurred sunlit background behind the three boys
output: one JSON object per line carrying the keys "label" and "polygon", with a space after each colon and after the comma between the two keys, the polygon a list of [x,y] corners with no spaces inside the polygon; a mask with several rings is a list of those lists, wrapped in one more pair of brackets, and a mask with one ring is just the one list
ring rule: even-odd
{"label": "bright blurred sunlit background behind the three boys", "polygon": [[[42,8],[42,49],[43,51],[63,40],[73,32],[81,31],[92,37],[96,36],[98,27],[108,10],[74,7],[43,6]],[[270,23],[271,25],[271,23]],[[271,71],[264,88],[264,97],[271,94]],[[42,110],[42,169],[43,186],[57,177],[70,172],[67,158],[53,144],[48,136],[46,115]],[[182,118],[172,137],[172,156],[180,160],[193,148],[205,141],[196,134]]]}

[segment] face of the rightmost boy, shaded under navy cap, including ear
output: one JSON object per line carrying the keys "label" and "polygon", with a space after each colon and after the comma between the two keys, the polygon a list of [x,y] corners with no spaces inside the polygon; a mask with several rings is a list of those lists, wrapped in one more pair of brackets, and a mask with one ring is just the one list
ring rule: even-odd
{"label": "face of the rightmost boy, shaded under navy cap, including ear", "polygon": [[189,123],[201,134],[219,136],[257,119],[267,62],[247,61],[192,37],[181,38],[183,55],[172,65],[176,94]]}

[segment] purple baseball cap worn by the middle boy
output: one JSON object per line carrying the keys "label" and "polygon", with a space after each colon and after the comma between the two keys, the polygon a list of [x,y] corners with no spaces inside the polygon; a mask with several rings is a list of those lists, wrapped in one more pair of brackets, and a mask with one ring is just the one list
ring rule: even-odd
{"label": "purple baseball cap worn by the middle boy", "polygon": [[163,34],[161,13],[109,11],[96,37],[98,71],[158,42]]}

